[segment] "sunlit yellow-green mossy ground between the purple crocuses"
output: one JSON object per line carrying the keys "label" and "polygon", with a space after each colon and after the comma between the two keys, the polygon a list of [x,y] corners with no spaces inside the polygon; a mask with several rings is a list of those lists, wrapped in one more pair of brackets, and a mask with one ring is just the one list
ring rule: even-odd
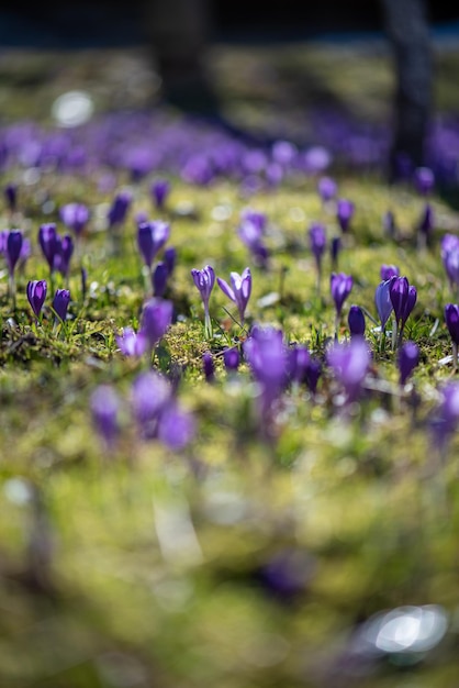
{"label": "sunlit yellow-green mossy ground between the purple crocuses", "polygon": [[[343,59],[339,52],[317,48],[309,56],[311,49],[286,49],[277,69],[295,71],[304,59],[334,98],[346,98],[354,109],[361,102],[374,112],[378,98],[387,102],[387,56],[373,56],[381,65],[381,86],[374,92],[363,87],[374,84],[371,56],[366,71],[361,56],[352,62],[351,53],[346,53],[349,84],[343,84],[332,68]],[[232,71],[235,63],[247,69],[261,64],[269,74],[269,54],[261,59],[257,51],[221,48],[219,55],[222,92],[226,86],[234,95],[229,76],[240,74]],[[25,76],[22,80],[18,76],[0,93],[5,113],[11,119],[27,114],[46,120],[49,101],[68,82],[67,73],[55,67],[60,81],[53,74],[43,84],[49,63],[23,59],[14,65],[18,75]],[[67,59],[67,66],[72,65],[71,84],[87,86],[87,57]],[[125,66],[123,57],[117,59]],[[452,57],[443,59],[449,64]],[[101,64],[105,71],[96,70],[91,84],[105,93],[109,109],[120,98],[119,82],[107,78],[107,73],[116,73],[113,62]],[[29,78],[27,69],[38,80],[34,87],[35,77]],[[228,98],[233,102],[228,108],[249,121],[255,112],[266,125],[268,106],[255,108],[244,84],[236,85],[240,98]],[[262,79],[260,84],[261,89]],[[267,78],[260,96],[273,112],[278,112],[277,84]],[[448,95],[446,86],[438,85],[440,95]],[[36,93],[33,112],[26,112],[33,101],[30,88]],[[456,107],[449,100],[447,104]],[[365,108],[363,112],[368,114]],[[11,176],[0,181],[4,185]],[[271,441],[260,437],[247,367],[231,380],[217,355],[225,344],[244,339],[246,331],[231,320],[224,308],[235,315],[234,309],[215,289],[211,314],[217,336],[205,342],[190,269],[211,263],[227,279],[231,270],[251,265],[236,228],[248,204],[265,212],[271,262],[267,270],[253,268],[247,326],[253,322],[280,326],[290,342],[305,344],[323,357],[334,335],[331,264],[326,257],[317,295],[306,229],[322,221],[334,236],[335,217],[322,207],[313,177],[292,178],[276,191],[249,199],[231,181],[199,188],[171,178],[161,217],[171,223],[169,244],[178,254],[168,293],[177,322],[156,353],[155,365],[167,374],[180,370],[180,400],[197,418],[197,437],[180,454],[142,442],[128,411],[131,384],[149,365],[145,358],[123,357],[115,341],[122,328],[137,328],[148,296],[133,220],[124,228],[122,256],[112,258],[107,254],[107,233],[90,224],[80,257],[72,262],[65,330],[53,330],[49,311],[36,325],[25,286],[29,279],[48,277],[36,232],[43,221],[58,221],[57,210],[44,218],[43,199],[52,198],[55,209],[81,200],[101,217],[111,196],[97,189],[96,179],[53,171],[35,186],[21,186],[16,220],[32,240],[33,254],[18,276],[14,310],[5,270],[0,282],[1,685],[457,686],[459,441],[452,440],[447,462],[440,464],[427,425],[441,384],[455,378],[451,365],[441,363],[450,354],[443,309],[455,299],[439,242],[445,232],[458,229],[459,218],[434,195],[433,242],[419,251],[415,228],[423,200],[412,188],[389,187],[374,174],[347,173],[336,179],[340,196],[356,204],[339,257],[339,269],[355,278],[339,336],[348,336],[350,303],[377,318],[373,297],[380,266],[398,265],[418,289],[406,330],[406,337],[421,347],[412,386],[399,393],[395,354],[389,342],[378,351],[378,335],[368,320],[376,390],[343,418],[333,403],[333,380],[325,374],[316,398],[305,390],[287,393]],[[119,188],[128,184],[134,190],[132,218],[137,211],[155,214],[149,181],[132,185],[122,175],[116,179]],[[192,212],[177,212],[183,204]],[[402,233],[399,241],[383,233],[382,215],[389,209]],[[2,224],[10,226],[5,210]],[[85,300],[79,263],[88,271]],[[272,292],[278,299],[264,306],[264,297]],[[212,386],[204,382],[201,368],[209,347],[217,355]],[[90,395],[102,382],[115,386],[125,400],[121,439],[111,452],[96,434],[89,410]],[[273,556],[291,551],[301,561],[301,586],[294,595],[276,595],[262,572]],[[342,670],[356,624],[406,604],[439,604],[447,610],[449,632],[440,646],[416,655],[413,664],[404,656],[405,666],[390,656],[369,674],[358,667],[356,674]]]}

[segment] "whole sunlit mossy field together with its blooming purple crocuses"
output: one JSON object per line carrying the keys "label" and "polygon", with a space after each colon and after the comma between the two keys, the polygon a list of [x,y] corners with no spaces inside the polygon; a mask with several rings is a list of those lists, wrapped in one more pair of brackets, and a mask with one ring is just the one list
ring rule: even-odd
{"label": "whole sunlit mossy field together with its blooming purple crocuses", "polygon": [[136,91],[71,121],[86,84],[53,122],[63,82],[35,119],[25,82],[0,89],[0,685],[456,688],[454,114],[389,186],[377,119],[237,136]]}

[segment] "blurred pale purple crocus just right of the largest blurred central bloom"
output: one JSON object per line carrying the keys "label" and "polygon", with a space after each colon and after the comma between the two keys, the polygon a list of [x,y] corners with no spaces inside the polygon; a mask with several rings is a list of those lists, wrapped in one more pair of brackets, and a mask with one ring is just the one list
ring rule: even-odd
{"label": "blurred pale purple crocus just right of the largest blurred central bloom", "polygon": [[370,365],[370,351],[363,339],[355,337],[335,344],[327,353],[327,363],[344,387],[347,401],[355,401]]}

